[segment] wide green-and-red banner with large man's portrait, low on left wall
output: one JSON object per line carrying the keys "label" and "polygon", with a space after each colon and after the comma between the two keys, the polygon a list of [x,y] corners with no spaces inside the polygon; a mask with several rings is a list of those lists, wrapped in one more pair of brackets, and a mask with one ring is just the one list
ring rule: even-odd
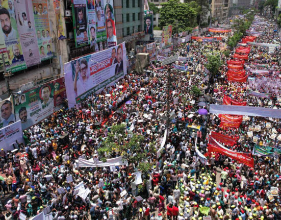
{"label": "wide green-and-red banner with large man's portrait, low on left wall", "polygon": [[21,95],[14,95],[16,119],[21,121],[23,130],[27,129],[60,110],[65,99],[64,78],[42,84]]}

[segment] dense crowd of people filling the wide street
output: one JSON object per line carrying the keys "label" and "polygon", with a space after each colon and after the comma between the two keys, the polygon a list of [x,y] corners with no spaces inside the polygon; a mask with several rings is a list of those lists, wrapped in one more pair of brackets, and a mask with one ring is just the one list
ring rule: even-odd
{"label": "dense crowd of people filling the wide street", "polygon": [[[264,33],[257,42],[280,39],[273,21],[256,17],[251,28]],[[238,128],[229,128],[220,126],[218,115],[198,114],[210,103],[222,104],[225,95],[247,105],[281,108],[281,54],[252,46],[245,68],[253,62],[267,64],[272,74],[256,76],[247,70],[254,81],[229,82],[229,58],[222,48],[228,48],[226,41],[183,43],[171,55],[194,58],[175,63],[186,71],[155,63],[144,74],[131,72],[75,108],[65,107],[25,130],[16,154],[0,152],[0,192],[8,197],[0,219],[22,214],[35,220],[281,219],[281,140],[276,138],[281,122],[243,116]],[[214,83],[206,68],[210,53],[223,61]],[[251,96],[248,88],[270,93],[270,99]],[[205,104],[199,105],[201,101]],[[252,130],[256,126],[259,130]],[[272,154],[255,155],[254,167],[248,167],[208,152],[212,131],[235,140],[219,141],[229,150],[252,154],[260,145]],[[106,165],[120,156],[122,163]],[[81,167],[82,159],[101,165]]]}

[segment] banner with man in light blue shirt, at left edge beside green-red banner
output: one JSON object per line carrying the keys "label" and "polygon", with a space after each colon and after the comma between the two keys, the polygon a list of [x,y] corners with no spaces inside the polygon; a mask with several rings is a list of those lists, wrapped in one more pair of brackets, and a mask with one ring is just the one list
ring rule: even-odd
{"label": "banner with man in light blue shirt, at left edge beside green-red banner", "polygon": [[10,124],[15,123],[15,115],[14,115],[14,104],[12,96],[10,96],[6,100],[0,101],[0,128],[6,127]]}

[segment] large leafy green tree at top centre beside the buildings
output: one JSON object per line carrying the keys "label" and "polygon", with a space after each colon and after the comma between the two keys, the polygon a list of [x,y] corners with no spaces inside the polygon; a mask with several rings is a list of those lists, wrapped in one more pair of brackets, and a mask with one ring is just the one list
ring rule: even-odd
{"label": "large leafy green tree at top centre beside the buildings", "polygon": [[[161,3],[160,27],[173,26],[173,33],[187,31],[188,27],[197,26],[197,15],[199,11],[196,2],[181,3],[180,0],[170,0]],[[195,8],[193,8],[195,7]]]}

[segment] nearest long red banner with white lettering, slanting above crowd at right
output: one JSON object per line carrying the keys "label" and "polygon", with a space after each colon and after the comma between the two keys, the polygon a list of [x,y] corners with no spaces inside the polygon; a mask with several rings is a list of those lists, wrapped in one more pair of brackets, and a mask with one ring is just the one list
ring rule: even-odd
{"label": "nearest long red banner with white lettering, slanting above crowd at right", "polygon": [[226,150],[222,149],[218,146],[215,146],[213,144],[208,144],[208,152],[217,152],[219,154],[228,156],[234,160],[237,160],[240,163],[243,163],[249,167],[254,167],[254,161],[252,157],[245,156],[243,153],[236,152],[236,151],[231,151],[231,150]]}

